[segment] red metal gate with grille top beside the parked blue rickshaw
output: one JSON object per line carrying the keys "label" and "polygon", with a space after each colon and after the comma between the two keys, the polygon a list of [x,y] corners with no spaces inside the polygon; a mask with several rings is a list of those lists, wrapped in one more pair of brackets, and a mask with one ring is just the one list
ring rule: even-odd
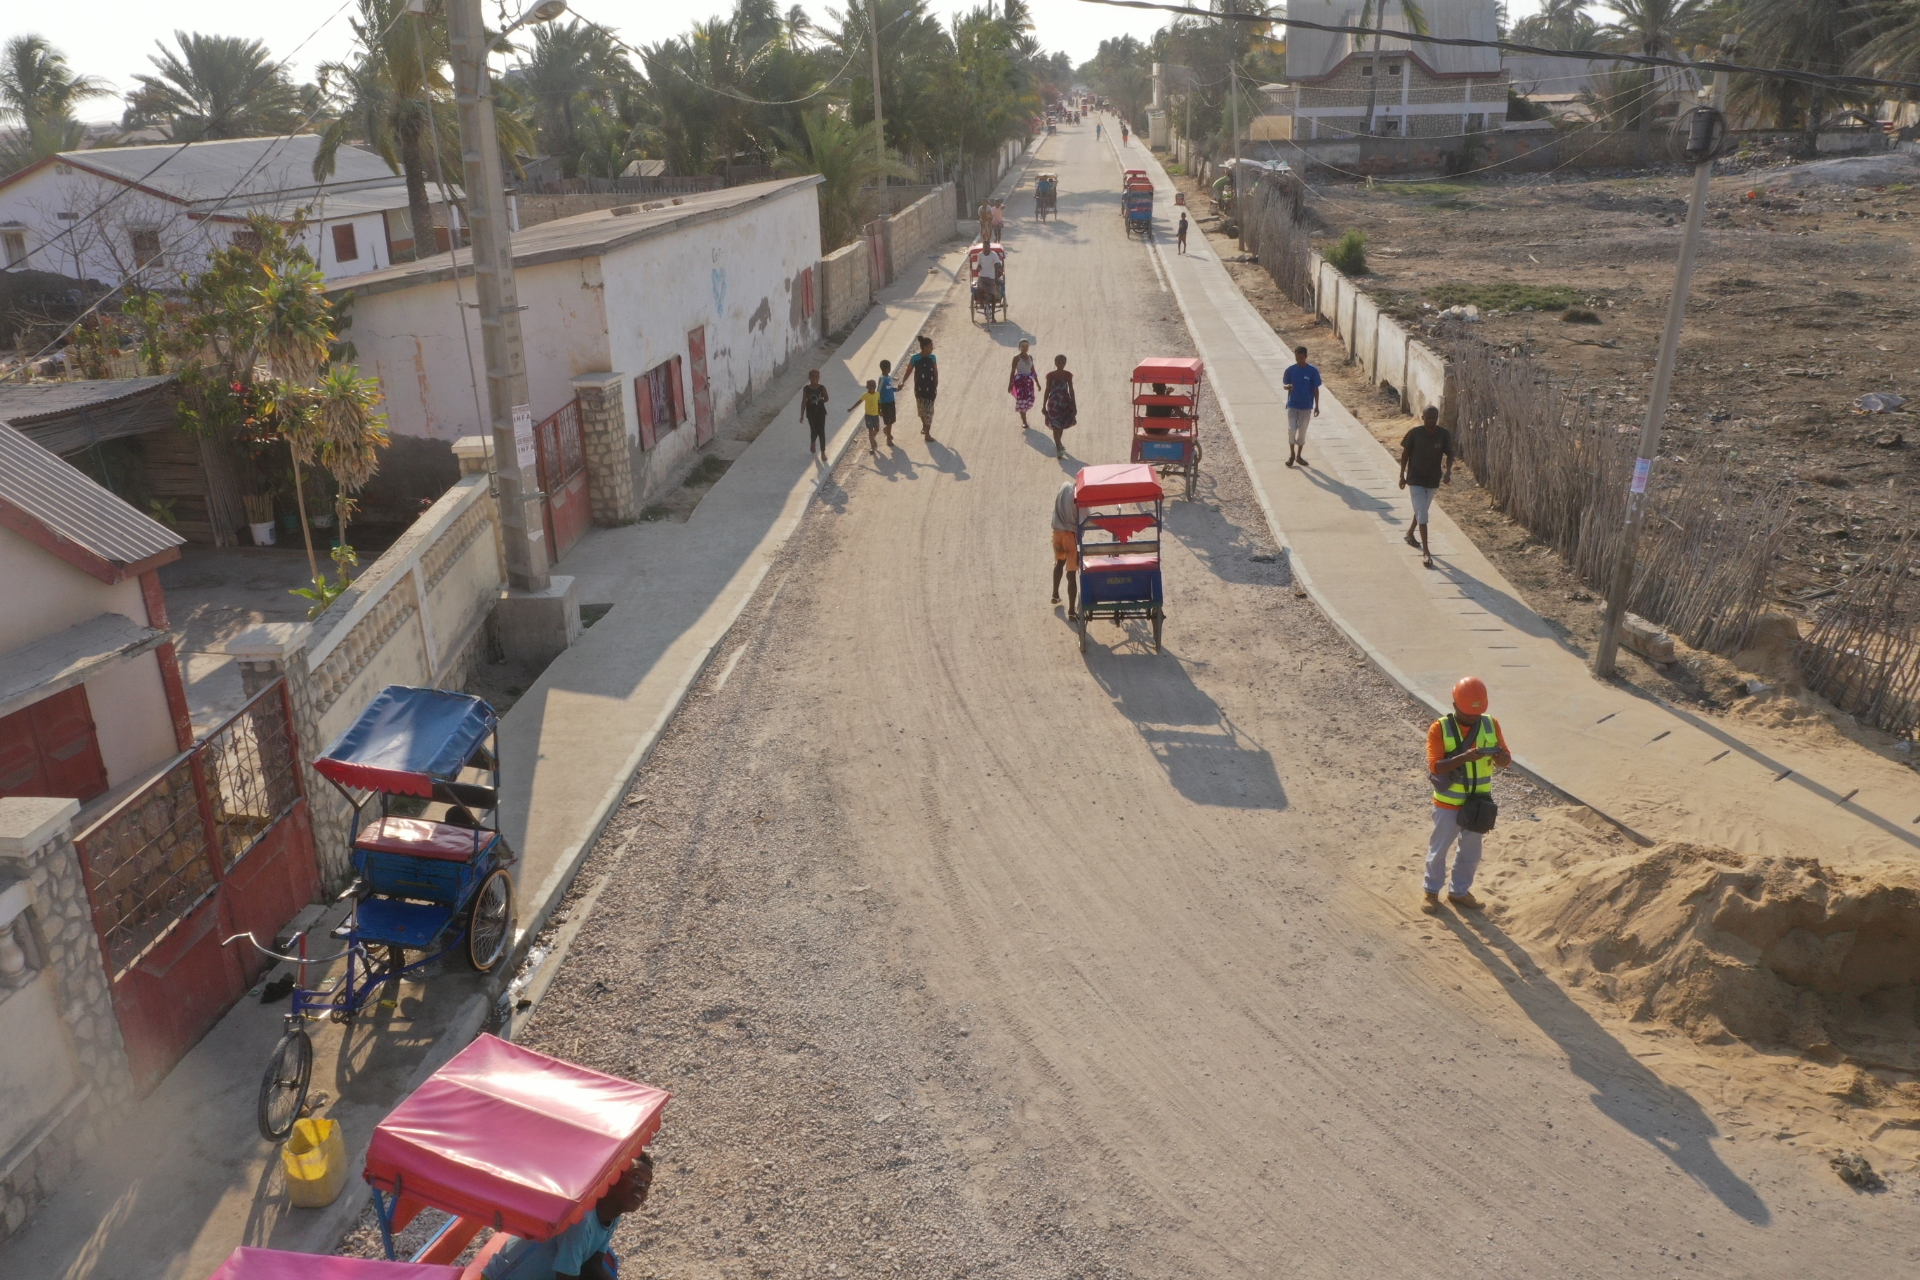
{"label": "red metal gate with grille top beside the parked blue rickshaw", "polygon": [[140,1092],[227,1013],[319,892],[286,683],[115,804],[77,841],[113,1011]]}

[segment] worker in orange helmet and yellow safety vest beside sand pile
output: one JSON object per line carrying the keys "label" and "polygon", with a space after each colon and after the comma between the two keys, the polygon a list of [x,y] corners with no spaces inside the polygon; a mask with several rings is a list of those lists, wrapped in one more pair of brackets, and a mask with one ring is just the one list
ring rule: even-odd
{"label": "worker in orange helmet and yellow safety vest beside sand pile", "polygon": [[1427,841],[1427,902],[1423,912],[1440,910],[1446,858],[1453,858],[1453,887],[1446,900],[1478,910],[1473,873],[1480,869],[1480,837],[1494,829],[1494,770],[1513,764],[1500,722],[1486,714],[1486,681],[1465,676],[1453,685],[1453,712],[1427,729],[1427,773],[1434,789],[1434,831]]}

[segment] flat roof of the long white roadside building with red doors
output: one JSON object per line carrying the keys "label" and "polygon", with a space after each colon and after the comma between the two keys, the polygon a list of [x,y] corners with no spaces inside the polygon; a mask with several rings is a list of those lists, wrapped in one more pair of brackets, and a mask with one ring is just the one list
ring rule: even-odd
{"label": "flat roof of the long white roadside building with red doors", "polygon": [[[632,213],[597,209],[593,213],[563,217],[553,223],[538,223],[526,230],[513,232],[513,267],[518,271],[540,263],[611,253],[612,249],[634,244],[636,240],[645,240],[647,236],[659,236],[680,225],[710,223],[751,203],[780,200],[781,196],[791,196],[793,192],[803,190],[810,192],[820,182],[820,175],[814,173],[778,182],[726,186],[718,192],[701,192],[697,196],[636,196],[634,203],[618,205],[620,209],[632,209]],[[676,200],[680,203],[674,203]],[[645,205],[660,207],[647,209]],[[434,257],[424,257],[417,263],[401,263],[399,267],[369,271],[359,276],[328,280],[326,292],[351,292],[367,296],[382,294],[394,288],[411,288],[432,280],[449,280],[451,261],[449,253],[436,253]],[[461,253],[459,271],[463,276],[472,274],[472,253]]]}

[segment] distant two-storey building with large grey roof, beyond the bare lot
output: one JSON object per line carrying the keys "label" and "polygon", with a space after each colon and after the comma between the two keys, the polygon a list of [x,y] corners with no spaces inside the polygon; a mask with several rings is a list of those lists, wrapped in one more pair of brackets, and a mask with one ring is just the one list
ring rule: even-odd
{"label": "distant two-storey building with large grey roof, beyond the bare lot", "polygon": [[[1379,27],[1405,31],[1396,6]],[[1494,0],[1425,0],[1427,31],[1436,36],[1500,38]],[[1356,0],[1288,0],[1288,17],[1332,27],[1359,25]],[[1367,132],[1386,138],[1446,138],[1498,130],[1507,123],[1507,73],[1496,48],[1380,38],[1380,83],[1373,81],[1373,38],[1292,27],[1286,33],[1286,81],[1263,84],[1263,115],[1254,140],[1308,142]],[[1375,92],[1377,90],[1377,92]]]}

